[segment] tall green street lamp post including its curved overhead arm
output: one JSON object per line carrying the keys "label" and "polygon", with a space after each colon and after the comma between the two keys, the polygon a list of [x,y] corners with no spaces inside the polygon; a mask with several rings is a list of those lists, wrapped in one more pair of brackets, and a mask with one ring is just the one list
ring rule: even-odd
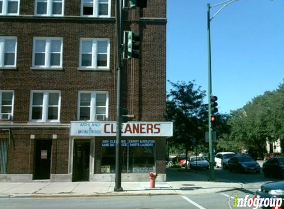
{"label": "tall green street lamp post including its curved overhead arm", "polygon": [[[210,41],[210,22],[216,17],[222,9],[227,5],[239,0],[227,0],[215,5],[207,4],[207,33],[208,33],[208,141],[209,141],[209,155],[210,155],[210,175],[209,180],[214,181],[214,158],[213,158],[213,144],[212,144],[212,129],[211,129],[211,100],[212,95],[212,85],[211,85],[211,41]],[[271,0],[273,1],[273,0]],[[212,17],[210,17],[210,9],[214,7],[221,7]]]}

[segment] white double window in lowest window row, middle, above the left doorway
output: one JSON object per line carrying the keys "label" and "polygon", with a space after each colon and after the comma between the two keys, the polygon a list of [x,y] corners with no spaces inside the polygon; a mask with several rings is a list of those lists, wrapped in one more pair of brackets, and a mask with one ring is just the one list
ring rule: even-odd
{"label": "white double window in lowest window row, middle, above the left doorway", "polygon": [[30,121],[60,122],[60,91],[31,92]]}

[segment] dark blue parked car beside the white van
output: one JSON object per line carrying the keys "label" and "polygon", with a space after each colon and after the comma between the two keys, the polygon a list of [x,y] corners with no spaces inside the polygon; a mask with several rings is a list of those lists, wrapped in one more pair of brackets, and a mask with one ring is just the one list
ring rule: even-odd
{"label": "dark blue parked car beside the white van", "polygon": [[259,164],[247,155],[236,155],[228,161],[229,171],[237,172],[260,172]]}

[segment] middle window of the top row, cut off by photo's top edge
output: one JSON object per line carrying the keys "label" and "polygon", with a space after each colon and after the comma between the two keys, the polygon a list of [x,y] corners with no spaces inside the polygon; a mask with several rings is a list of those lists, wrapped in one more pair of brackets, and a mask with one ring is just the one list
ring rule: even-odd
{"label": "middle window of the top row, cut off by photo's top edge", "polygon": [[63,16],[64,0],[36,0],[35,14],[39,16]]}

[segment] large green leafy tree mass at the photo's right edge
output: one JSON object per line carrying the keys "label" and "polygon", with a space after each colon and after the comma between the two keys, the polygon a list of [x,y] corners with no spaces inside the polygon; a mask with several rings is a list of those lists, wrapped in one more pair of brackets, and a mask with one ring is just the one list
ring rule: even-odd
{"label": "large green leafy tree mass at the photo's right edge", "polygon": [[284,138],[284,84],[257,96],[244,107],[231,112],[228,136],[255,157],[263,157],[266,140]]}

